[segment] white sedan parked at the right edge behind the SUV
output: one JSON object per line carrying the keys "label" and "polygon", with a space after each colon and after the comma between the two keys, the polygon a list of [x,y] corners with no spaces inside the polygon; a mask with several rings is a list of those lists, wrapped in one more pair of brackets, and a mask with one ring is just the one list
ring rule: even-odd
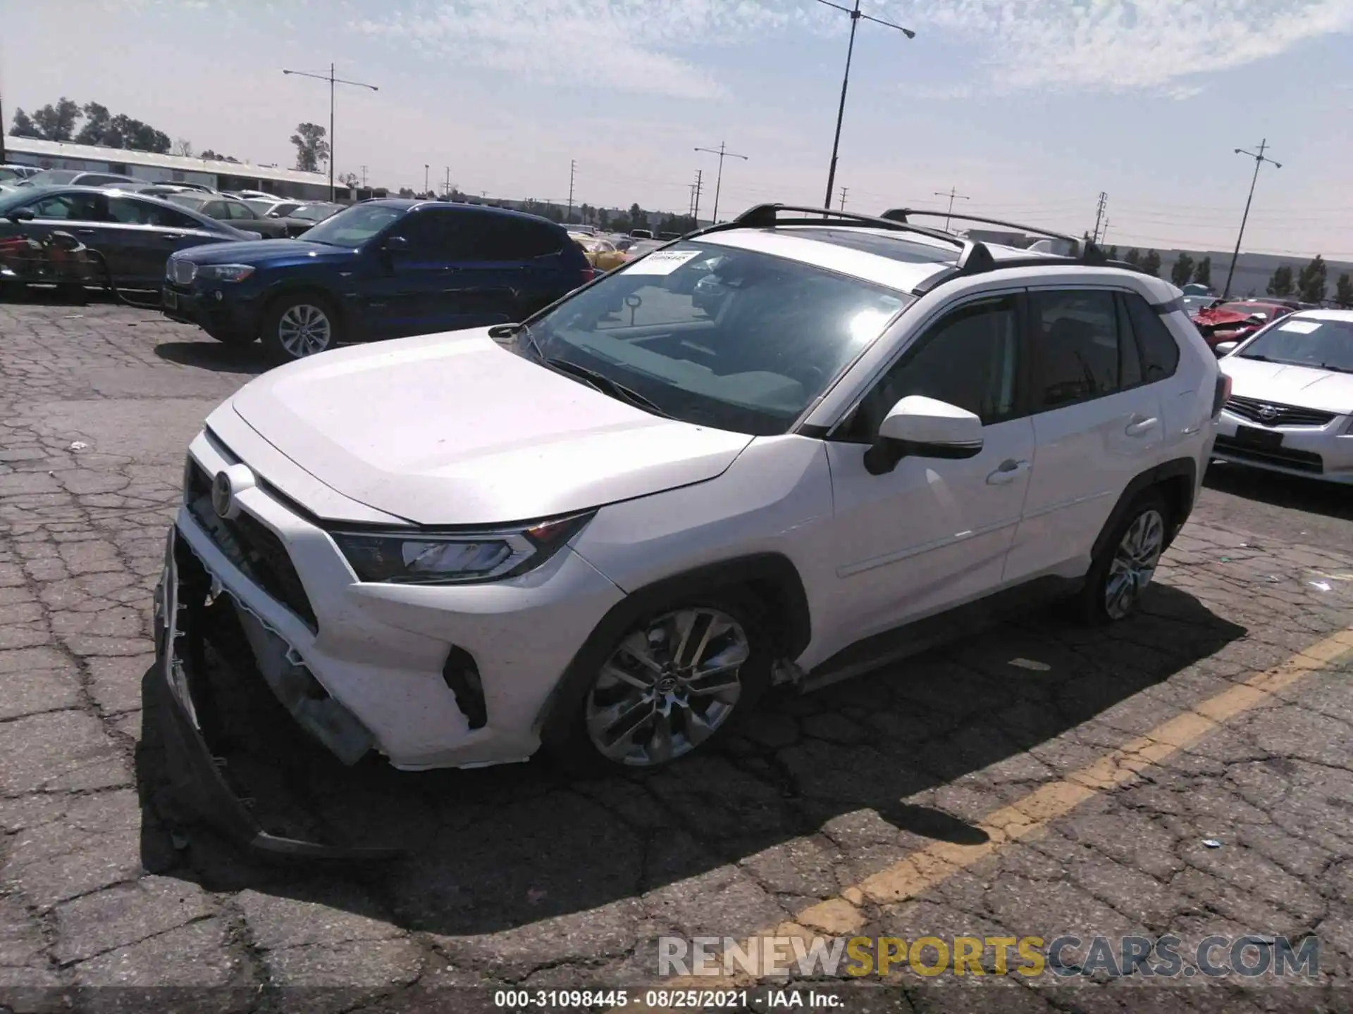
{"label": "white sedan parked at the right edge behind the SUV", "polygon": [[1303,310],[1222,343],[1222,461],[1353,485],[1353,310]]}

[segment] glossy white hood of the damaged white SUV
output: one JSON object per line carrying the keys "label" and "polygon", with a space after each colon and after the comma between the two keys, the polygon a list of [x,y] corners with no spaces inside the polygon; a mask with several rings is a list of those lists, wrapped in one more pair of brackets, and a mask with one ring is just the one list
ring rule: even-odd
{"label": "glossy white hood of the damaged white SUV", "polygon": [[319,481],[419,525],[547,518],[701,483],[751,442],[607,397],[487,329],[300,360],[231,404]]}

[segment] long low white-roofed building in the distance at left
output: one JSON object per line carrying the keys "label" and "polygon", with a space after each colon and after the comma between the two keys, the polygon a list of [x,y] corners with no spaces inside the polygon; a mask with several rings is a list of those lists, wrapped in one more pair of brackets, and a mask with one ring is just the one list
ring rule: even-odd
{"label": "long low white-roofed building in the distance at left", "polygon": [[[38,138],[7,137],[4,147],[5,158],[15,165],[118,173],[146,183],[200,183],[218,191],[262,191],[279,197],[329,199],[329,177],[325,173]],[[338,200],[361,196],[341,184],[336,184],[334,195]]]}

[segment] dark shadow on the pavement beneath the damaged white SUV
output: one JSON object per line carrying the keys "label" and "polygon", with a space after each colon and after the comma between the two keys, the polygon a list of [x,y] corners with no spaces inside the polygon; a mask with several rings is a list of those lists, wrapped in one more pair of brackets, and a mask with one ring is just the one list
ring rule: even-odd
{"label": "dark shadow on the pavement beneath the damaged white SUV", "polygon": [[[1103,727],[1085,741],[1063,733],[1108,708],[1119,725],[1155,725],[1160,708],[1174,714],[1178,704],[1142,692],[1245,633],[1158,585],[1128,623],[1089,630],[1046,611],[965,631],[948,648],[848,683],[773,696],[709,756],[594,777],[545,760],[422,773],[373,758],[345,768],[304,740],[257,675],[222,664],[226,683],[262,694],[244,722],[222,708],[222,753],[249,786],[258,822],[407,850],[342,867],[264,863],[196,826],[166,848],[176,818],[152,671],[137,753],[142,859],[211,891],[250,888],[442,936],[583,917],[645,895],[675,906],[668,913],[724,925],[740,918],[752,883],[793,910],[930,841],[985,841],[984,814],[1105,749]],[[1119,735],[1119,725],[1109,738],[1126,741],[1132,733]],[[735,864],[741,872],[724,869]]]}

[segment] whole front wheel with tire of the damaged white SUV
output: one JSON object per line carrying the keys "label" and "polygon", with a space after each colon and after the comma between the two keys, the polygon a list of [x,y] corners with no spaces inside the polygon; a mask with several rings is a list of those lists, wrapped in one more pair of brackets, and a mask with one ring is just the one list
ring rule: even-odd
{"label": "whole front wheel with tire of the damaged white SUV", "polygon": [[755,607],[690,596],[633,622],[612,645],[574,721],[570,754],[590,767],[660,768],[721,740],[770,685]]}

